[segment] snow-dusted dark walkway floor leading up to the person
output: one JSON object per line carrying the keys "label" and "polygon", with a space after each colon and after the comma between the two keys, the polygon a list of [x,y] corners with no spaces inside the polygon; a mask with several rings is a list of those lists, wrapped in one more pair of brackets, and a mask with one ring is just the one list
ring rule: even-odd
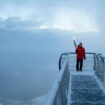
{"label": "snow-dusted dark walkway floor leading up to the person", "polygon": [[70,105],[105,105],[105,93],[93,72],[71,72]]}

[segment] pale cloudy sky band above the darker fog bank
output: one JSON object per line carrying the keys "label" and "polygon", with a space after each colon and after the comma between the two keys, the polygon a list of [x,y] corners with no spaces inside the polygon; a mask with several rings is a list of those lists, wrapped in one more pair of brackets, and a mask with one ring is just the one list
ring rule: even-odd
{"label": "pale cloudy sky band above the darker fog bank", "polygon": [[0,27],[97,32],[104,0],[0,0]]}

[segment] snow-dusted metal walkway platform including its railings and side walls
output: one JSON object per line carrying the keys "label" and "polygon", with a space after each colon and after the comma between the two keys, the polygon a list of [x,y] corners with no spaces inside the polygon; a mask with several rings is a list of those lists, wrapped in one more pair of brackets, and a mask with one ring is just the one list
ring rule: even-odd
{"label": "snow-dusted metal walkway platform including its railings and side walls", "polygon": [[105,58],[86,53],[83,71],[76,71],[76,54],[63,53],[59,74],[44,105],[105,105]]}

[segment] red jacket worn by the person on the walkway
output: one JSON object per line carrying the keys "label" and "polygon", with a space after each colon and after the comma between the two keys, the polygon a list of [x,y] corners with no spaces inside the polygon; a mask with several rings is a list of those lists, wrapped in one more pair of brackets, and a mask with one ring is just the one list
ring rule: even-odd
{"label": "red jacket worn by the person on the walkway", "polygon": [[83,60],[85,59],[85,49],[81,46],[78,46],[76,49],[77,59]]}

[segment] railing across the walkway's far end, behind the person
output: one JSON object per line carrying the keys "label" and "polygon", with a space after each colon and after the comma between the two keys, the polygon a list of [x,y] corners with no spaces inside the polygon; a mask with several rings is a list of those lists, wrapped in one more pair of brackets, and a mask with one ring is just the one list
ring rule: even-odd
{"label": "railing across the walkway's far end, behind the person", "polygon": [[[75,52],[69,52],[69,53],[62,53],[59,59],[59,70],[62,68],[63,63],[65,62],[66,56],[69,56],[69,66],[70,69],[75,70],[76,69],[76,53]],[[86,53],[86,60],[84,60],[83,69],[84,70],[95,70],[95,53],[88,52]]]}

